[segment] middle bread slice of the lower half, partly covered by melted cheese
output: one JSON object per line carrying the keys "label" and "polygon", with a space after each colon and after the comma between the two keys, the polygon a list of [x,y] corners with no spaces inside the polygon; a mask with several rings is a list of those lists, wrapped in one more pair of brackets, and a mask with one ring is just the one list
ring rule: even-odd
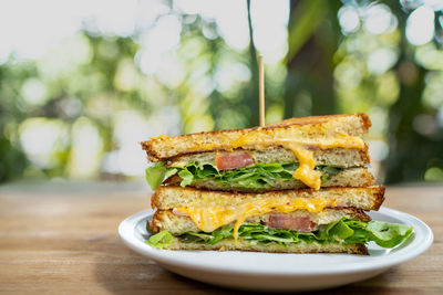
{"label": "middle bread slice of the lower half, partly covered by melted cheese", "polygon": [[[255,215],[246,219],[246,223],[255,224],[260,223],[268,225],[269,217],[274,212],[262,215]],[[370,221],[371,218],[362,210],[356,208],[343,209],[324,209],[321,213],[311,213],[307,210],[297,210],[288,213],[293,218],[309,218],[309,220],[317,225],[329,224],[340,221],[342,218],[357,219],[361,221]],[[199,229],[195,225],[192,219],[187,215],[175,214],[173,210],[157,210],[151,221],[151,230],[159,232],[166,230],[172,234],[182,234],[184,232],[198,232]]]}

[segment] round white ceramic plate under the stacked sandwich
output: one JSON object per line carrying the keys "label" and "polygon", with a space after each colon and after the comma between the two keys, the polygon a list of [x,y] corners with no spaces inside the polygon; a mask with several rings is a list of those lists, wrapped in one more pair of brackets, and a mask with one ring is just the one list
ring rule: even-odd
{"label": "round white ceramic plate under the stacked sandwich", "polygon": [[146,220],[152,210],[125,219],[119,226],[123,242],[135,252],[156,261],[171,272],[205,283],[255,291],[308,291],[346,285],[378,275],[389,267],[426,251],[433,241],[431,229],[421,220],[388,208],[370,212],[373,220],[404,223],[414,228],[392,250],[369,244],[369,256],[349,254],[278,254],[256,252],[166,251],[145,243]]}

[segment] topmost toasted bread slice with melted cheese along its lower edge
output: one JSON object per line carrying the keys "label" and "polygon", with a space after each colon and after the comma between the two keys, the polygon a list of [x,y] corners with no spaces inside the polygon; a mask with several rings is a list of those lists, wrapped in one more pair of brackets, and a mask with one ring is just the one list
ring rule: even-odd
{"label": "topmost toasted bread slice with melted cheese along its lower edge", "polygon": [[300,117],[250,129],[161,136],[142,143],[142,147],[152,161],[203,151],[285,147],[288,140],[303,147],[363,149],[364,143],[357,136],[370,126],[365,114]]}

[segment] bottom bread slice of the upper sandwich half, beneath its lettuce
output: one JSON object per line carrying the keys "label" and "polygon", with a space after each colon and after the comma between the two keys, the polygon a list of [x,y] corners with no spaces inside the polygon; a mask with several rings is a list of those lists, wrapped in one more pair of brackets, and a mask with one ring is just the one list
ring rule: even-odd
{"label": "bottom bread slice of the upper sandwich half, beneath its lettuce", "polygon": [[[172,186],[179,186],[182,178],[177,175],[168,178],[165,183]],[[374,179],[372,175],[368,171],[367,168],[349,168],[344,169],[341,172],[331,176],[321,183],[322,188],[329,187],[369,187],[372,186]],[[238,186],[238,183],[231,182],[228,185],[219,183],[215,180],[197,180],[189,185],[192,188],[198,189],[207,189],[207,190],[223,190],[223,191],[255,191],[255,192],[265,192],[271,190],[289,190],[289,189],[301,189],[308,188],[303,182],[298,179],[285,179],[285,180],[275,180],[272,187],[262,188],[262,189],[250,189]]]}

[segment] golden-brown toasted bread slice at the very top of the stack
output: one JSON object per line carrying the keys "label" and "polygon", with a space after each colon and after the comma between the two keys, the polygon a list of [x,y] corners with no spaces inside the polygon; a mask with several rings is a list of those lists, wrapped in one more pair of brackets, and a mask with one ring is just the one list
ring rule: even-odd
{"label": "golden-brown toasted bread slice at the very top of the stack", "polygon": [[[359,136],[368,131],[371,122],[365,114],[330,115],[316,117],[291,118],[285,122],[255,127],[249,129],[215,130],[198,134],[181,135],[176,137],[158,137],[143,141],[142,148],[146,150],[151,161],[165,160],[178,155],[226,150],[233,140],[240,140],[246,136],[291,138],[303,146],[318,146],[327,138],[339,138],[343,135]],[[316,140],[313,140],[316,138]],[[268,145],[269,146],[269,145]],[[275,144],[274,146],[281,146]],[[261,145],[251,144],[240,146],[248,149],[262,148]]]}

